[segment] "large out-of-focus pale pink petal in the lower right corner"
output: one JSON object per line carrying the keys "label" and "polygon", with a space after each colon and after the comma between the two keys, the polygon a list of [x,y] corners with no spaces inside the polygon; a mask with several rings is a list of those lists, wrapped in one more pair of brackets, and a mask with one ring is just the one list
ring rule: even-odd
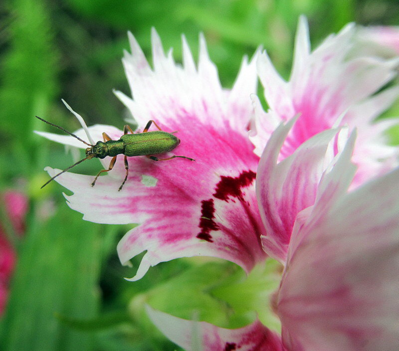
{"label": "large out-of-focus pale pink petal in the lower right corner", "polygon": [[349,194],[342,186],[337,196],[332,182],[293,233],[278,297],[283,341],[289,350],[397,350],[399,169]]}

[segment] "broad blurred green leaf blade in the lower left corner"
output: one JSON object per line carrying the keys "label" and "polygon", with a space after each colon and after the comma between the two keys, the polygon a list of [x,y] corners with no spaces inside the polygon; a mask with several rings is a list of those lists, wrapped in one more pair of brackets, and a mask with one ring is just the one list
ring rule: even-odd
{"label": "broad blurred green leaf blade in the lower left corner", "polygon": [[93,336],[68,328],[56,314],[95,316],[101,226],[60,209],[42,223],[38,209],[18,250],[18,264],[2,321],[4,350],[93,350]]}

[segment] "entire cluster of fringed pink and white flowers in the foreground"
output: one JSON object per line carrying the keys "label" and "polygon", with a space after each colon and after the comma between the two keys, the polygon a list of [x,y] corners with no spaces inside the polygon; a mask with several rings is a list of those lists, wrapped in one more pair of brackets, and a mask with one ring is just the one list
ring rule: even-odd
{"label": "entire cluster of fringed pink and white flowers in the foreground", "polygon": [[[171,155],[196,162],[130,157],[121,192],[121,157],[93,188],[94,175],[66,172],[56,181],[73,192],[65,195],[68,206],[92,222],[139,224],[118,245],[122,263],[147,251],[131,280],[185,256],[224,258],[247,272],[268,255],[284,266],[271,301],[281,336],[259,321],[225,330],[149,309],[185,349],[397,351],[398,148],[384,137],[392,122],[374,119],[398,96],[397,86],[380,92],[398,62],[351,57],[355,32],[348,25],[311,51],[301,18],[290,80],[266,53],[256,54],[243,61],[231,90],[221,88],[203,38],[198,67],[185,40],[180,66],[154,32],[151,68],[130,35],[123,63],[132,99],[116,95],[138,130],[149,119],[178,130],[181,144]],[[254,95],[256,65],[267,112]],[[122,134],[108,125],[89,131],[95,140],[104,131],[113,139]],[[82,129],[76,133],[87,140]],[[70,136],[39,134],[86,147]]]}

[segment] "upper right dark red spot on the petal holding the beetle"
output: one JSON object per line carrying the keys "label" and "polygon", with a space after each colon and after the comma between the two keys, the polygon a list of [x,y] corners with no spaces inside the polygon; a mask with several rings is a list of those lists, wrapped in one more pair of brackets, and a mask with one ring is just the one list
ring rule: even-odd
{"label": "upper right dark red spot on the petal holding the beetle", "polygon": [[221,176],[219,183],[216,184],[213,196],[224,201],[227,201],[230,196],[243,200],[241,189],[251,185],[255,178],[256,173],[252,171],[243,171],[235,178]]}

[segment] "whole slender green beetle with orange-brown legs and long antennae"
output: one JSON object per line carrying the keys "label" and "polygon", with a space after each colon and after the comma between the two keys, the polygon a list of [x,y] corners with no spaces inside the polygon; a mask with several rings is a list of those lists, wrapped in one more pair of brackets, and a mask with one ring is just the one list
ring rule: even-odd
{"label": "whole slender green beetle with orange-brown legs and long antennae", "polygon": [[[56,174],[54,177],[52,177],[50,180],[48,180],[45,184],[41,186],[43,188],[46,186],[48,183],[50,183],[54,178],[58,177],[60,174],[66,172],[67,170],[71,169],[72,167],[75,167],[77,164],[93,158],[104,158],[106,156],[111,156],[111,162],[109,163],[108,169],[102,169],[96,177],[93,180],[93,183],[91,183],[91,186],[94,186],[96,183],[96,180],[98,176],[103,173],[103,172],[108,172],[110,171],[116,162],[116,156],[123,154],[125,155],[124,157],[124,162],[125,162],[125,169],[126,169],[126,175],[125,179],[123,180],[121,186],[119,187],[118,191],[120,191],[125,184],[126,180],[128,179],[129,175],[129,163],[128,163],[128,156],[147,156],[151,160],[154,161],[167,161],[171,160],[176,157],[181,157],[181,158],[187,158],[188,160],[195,161],[194,158],[186,157],[186,156],[171,156],[168,158],[158,158],[155,156],[152,156],[152,154],[159,154],[159,153],[164,153],[168,151],[172,151],[175,149],[179,144],[180,144],[180,139],[175,136],[173,133],[168,133],[166,131],[163,131],[159,125],[154,121],[150,120],[147,125],[145,126],[143,132],[141,133],[134,133],[132,128],[126,124],[123,128],[123,135],[120,137],[119,140],[112,140],[107,133],[103,133],[103,138],[104,141],[97,141],[95,145],[91,145],[84,141],[83,139],[79,138],[75,134],[69,132],[68,130],[50,123],[49,121],[37,117],[36,118],[42,120],[43,122],[50,124],[54,127],[57,127],[58,129],[61,129],[62,131],[68,133],[69,135],[72,135],[76,139],[80,140],[81,142],[85,143],[86,145],[89,145],[86,149],[86,157],[83,158],[82,160],[74,163],[72,166],[69,166],[68,168],[65,168],[63,171],[59,172]],[[150,128],[151,124],[154,123],[155,126],[159,129],[156,131],[148,131]],[[128,132],[131,132],[131,134],[128,134]]]}

